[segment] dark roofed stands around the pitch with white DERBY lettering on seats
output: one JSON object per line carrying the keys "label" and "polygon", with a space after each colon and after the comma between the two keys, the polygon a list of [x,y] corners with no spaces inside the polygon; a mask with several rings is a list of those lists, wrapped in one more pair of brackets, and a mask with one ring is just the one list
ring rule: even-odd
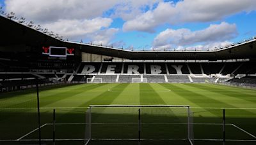
{"label": "dark roofed stands around the pitch with white DERBY lettering on seats", "polygon": [[[207,51],[131,51],[65,41],[10,18],[0,19],[1,31],[8,34],[0,43],[2,88],[31,85],[35,78],[41,83],[86,83],[88,78],[102,83],[131,83],[132,78],[148,83],[255,83],[251,75],[256,74],[256,38]],[[74,53],[52,57],[50,46],[72,48]]]}

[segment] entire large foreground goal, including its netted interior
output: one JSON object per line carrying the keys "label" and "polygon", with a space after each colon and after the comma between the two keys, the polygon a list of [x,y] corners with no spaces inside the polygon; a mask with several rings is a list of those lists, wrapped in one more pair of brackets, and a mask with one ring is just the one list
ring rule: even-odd
{"label": "entire large foreground goal, including its netted interior", "polygon": [[192,115],[189,106],[90,106],[84,144],[194,144]]}

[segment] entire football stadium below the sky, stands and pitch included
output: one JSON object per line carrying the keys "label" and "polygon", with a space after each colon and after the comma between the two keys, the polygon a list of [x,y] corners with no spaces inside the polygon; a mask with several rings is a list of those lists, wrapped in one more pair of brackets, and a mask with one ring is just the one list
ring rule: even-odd
{"label": "entire football stadium below the sky, stands and pitch included", "polygon": [[0,12],[0,144],[256,144],[256,37],[127,50]]}

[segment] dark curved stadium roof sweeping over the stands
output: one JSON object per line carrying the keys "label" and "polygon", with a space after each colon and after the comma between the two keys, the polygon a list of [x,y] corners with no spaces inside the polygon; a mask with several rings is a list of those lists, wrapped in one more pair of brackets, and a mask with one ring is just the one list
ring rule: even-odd
{"label": "dark curved stadium roof sweeping over the stands", "polygon": [[256,58],[256,38],[248,39],[225,48],[207,51],[131,51],[66,41],[56,34],[44,32],[44,29],[31,23],[21,22],[18,18],[13,19],[5,15],[0,16],[0,31],[2,34],[0,46],[67,46],[79,48],[81,52],[131,60],[255,60]]}

